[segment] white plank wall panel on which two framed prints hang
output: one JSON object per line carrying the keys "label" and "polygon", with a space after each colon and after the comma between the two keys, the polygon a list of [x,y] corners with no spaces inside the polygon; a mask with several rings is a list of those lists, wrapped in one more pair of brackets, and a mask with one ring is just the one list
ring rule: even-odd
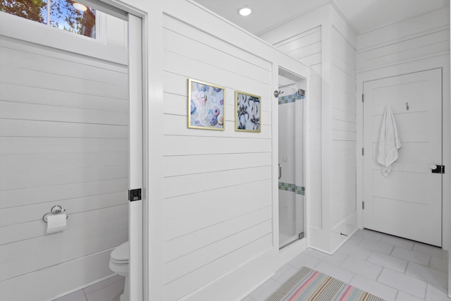
{"label": "white plank wall panel on which two framed prints hang", "polygon": [[[163,278],[178,300],[272,245],[272,67],[171,16],[163,49]],[[226,87],[224,131],[187,128],[188,78]],[[235,132],[235,90],[262,97],[261,133]]]}

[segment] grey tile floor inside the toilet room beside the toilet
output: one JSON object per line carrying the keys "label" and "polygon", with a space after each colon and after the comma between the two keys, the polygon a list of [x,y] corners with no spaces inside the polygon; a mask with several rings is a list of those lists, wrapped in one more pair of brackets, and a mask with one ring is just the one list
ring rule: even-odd
{"label": "grey tile floor inside the toilet room beside the toilet", "polygon": [[119,296],[124,290],[124,284],[125,278],[116,275],[54,301],[119,301]]}

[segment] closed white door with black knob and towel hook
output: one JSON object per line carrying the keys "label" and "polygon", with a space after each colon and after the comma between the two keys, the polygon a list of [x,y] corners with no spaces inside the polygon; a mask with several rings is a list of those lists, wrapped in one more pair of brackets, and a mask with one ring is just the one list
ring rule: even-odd
{"label": "closed white door with black knob and towel hook", "polygon": [[[385,178],[377,163],[385,106],[400,136]],[[442,245],[442,70],[364,82],[364,228]]]}

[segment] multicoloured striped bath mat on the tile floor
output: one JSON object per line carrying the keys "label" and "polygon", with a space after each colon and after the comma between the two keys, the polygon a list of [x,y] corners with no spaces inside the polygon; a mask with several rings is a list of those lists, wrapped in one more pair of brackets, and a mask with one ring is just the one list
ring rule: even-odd
{"label": "multicoloured striped bath mat on the tile floor", "polygon": [[383,301],[335,278],[302,267],[266,301]]}

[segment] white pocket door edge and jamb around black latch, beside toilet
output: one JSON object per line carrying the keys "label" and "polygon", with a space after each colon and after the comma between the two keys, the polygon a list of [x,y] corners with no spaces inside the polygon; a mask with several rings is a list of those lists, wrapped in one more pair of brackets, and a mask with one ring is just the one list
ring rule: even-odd
{"label": "white pocket door edge and jamb around black latch, beside toilet", "polygon": [[[147,179],[149,175],[148,162],[148,66],[147,62],[147,15],[139,9],[117,0],[83,0],[92,2],[104,11],[121,18],[125,13],[128,20],[128,70],[129,70],[129,186],[128,189],[141,188],[142,199],[128,203],[128,240],[130,242],[129,257],[129,299],[149,300],[149,283],[147,275],[147,208],[149,189]],[[111,9],[111,11],[110,11]]]}

